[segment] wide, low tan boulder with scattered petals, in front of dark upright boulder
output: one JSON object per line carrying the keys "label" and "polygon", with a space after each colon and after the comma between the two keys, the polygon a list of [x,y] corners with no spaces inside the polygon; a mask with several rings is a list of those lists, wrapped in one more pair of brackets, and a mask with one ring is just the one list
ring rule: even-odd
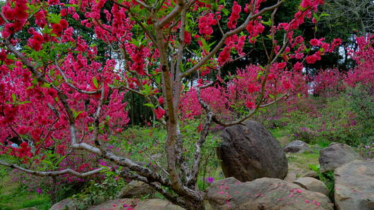
{"label": "wide, low tan boulder with scattered petals, in front of dark upright boulder", "polygon": [[322,193],[274,178],[240,182],[226,178],[207,189],[206,198],[215,210],[332,210],[334,204]]}

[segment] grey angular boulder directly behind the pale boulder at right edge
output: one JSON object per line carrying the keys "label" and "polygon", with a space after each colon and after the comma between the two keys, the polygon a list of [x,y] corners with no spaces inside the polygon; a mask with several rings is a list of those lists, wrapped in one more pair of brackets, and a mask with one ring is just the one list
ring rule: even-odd
{"label": "grey angular boulder directly behind the pale boulder at right edge", "polygon": [[347,144],[332,143],[319,151],[319,171],[321,173],[334,171],[337,167],[353,160],[362,160],[362,157]]}

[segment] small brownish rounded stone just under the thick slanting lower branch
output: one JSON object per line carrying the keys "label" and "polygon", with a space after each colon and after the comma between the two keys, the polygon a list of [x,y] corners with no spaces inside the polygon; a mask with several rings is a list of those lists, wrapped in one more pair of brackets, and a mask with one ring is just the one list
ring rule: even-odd
{"label": "small brownish rounded stone just under the thick slanting lower branch", "polygon": [[118,193],[118,198],[141,198],[144,195],[150,195],[152,198],[154,193],[155,190],[149,184],[132,180]]}

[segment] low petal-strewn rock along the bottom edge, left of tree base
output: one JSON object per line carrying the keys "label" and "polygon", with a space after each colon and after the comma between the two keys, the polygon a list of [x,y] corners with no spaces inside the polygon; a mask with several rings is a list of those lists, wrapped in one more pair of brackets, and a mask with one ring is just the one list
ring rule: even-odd
{"label": "low petal-strewn rock along the bottom edge, left of tree base", "polygon": [[139,200],[135,198],[109,200],[94,207],[90,207],[89,210],[123,210],[131,207],[133,207],[133,210],[184,210],[184,208],[172,204],[168,200]]}

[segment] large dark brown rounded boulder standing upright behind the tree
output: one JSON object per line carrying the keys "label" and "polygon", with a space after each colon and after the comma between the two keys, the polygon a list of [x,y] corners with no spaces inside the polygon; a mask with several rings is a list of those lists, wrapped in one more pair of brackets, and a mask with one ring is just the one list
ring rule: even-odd
{"label": "large dark brown rounded boulder standing upright behind the tree", "polygon": [[242,182],[256,178],[285,178],[287,158],[281,145],[262,124],[247,121],[224,129],[217,155],[225,177]]}

